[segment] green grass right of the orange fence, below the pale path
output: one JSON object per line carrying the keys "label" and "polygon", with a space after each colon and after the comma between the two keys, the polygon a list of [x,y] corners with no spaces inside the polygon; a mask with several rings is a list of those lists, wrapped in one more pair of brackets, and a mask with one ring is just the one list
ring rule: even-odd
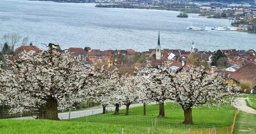
{"label": "green grass right of the orange fence, below the pale path", "polygon": [[235,122],[234,134],[256,134],[256,114],[240,111]]}

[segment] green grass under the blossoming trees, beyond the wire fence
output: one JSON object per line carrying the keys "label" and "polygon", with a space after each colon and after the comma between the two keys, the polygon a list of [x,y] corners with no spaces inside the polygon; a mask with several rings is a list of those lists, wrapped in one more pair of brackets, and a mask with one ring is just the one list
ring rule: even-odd
{"label": "green grass under the blossoming trees, beyond the wire fence", "polygon": [[[125,109],[120,110],[119,115],[113,115],[114,112],[109,112],[105,115],[93,115],[88,116],[88,122],[101,122],[110,124],[134,124],[136,126],[152,126],[152,120],[154,124],[154,118],[159,113],[159,105],[147,105],[146,116],[143,116],[143,107],[136,107],[129,109],[129,115],[125,115]],[[163,128],[170,127],[185,127],[182,124],[184,120],[184,112],[181,106],[175,106],[172,102],[168,102],[165,105],[166,118],[157,118],[157,122],[160,124],[159,127]],[[223,116],[225,115],[225,116]],[[232,121],[235,115],[235,108],[232,106],[221,108],[221,109],[209,109],[202,107],[200,109],[193,109],[192,116],[195,125],[192,127],[227,127],[232,125]],[[73,121],[86,121],[86,117],[80,117],[72,119]],[[188,126],[191,127],[191,126]]]}

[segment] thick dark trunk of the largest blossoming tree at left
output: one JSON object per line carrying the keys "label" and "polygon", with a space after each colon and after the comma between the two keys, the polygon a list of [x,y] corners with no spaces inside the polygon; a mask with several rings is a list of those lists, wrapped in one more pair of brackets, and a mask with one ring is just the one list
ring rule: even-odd
{"label": "thick dark trunk of the largest blossoming tree at left", "polygon": [[38,119],[60,120],[58,118],[57,101],[50,97],[42,111],[39,111]]}

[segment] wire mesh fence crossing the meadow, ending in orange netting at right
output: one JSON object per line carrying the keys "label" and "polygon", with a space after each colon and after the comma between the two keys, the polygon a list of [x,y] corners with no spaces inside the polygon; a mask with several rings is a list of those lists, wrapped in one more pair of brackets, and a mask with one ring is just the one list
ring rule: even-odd
{"label": "wire mesh fence crossing the meadow, ending in orange netting at right", "polygon": [[[111,109],[107,110],[108,112]],[[124,115],[101,114],[101,110],[83,110],[58,113],[53,111],[25,111],[10,114],[8,110],[0,110],[0,119],[51,119],[71,122],[92,122],[121,125],[124,128],[116,134],[232,134],[238,110],[232,126],[216,128],[214,124],[185,125],[170,120],[153,117],[134,117]]]}

